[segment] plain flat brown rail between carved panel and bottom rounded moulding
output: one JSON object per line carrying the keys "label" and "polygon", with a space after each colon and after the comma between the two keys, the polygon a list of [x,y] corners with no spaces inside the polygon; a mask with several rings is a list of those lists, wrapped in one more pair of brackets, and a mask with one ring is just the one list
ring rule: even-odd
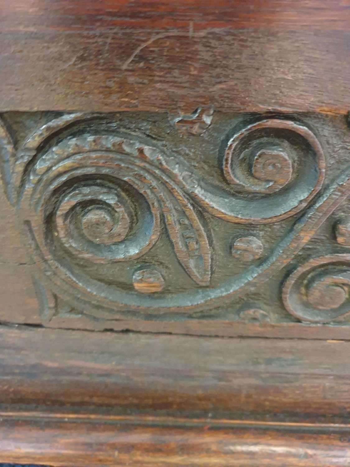
{"label": "plain flat brown rail between carved panel and bottom rounded moulding", "polygon": [[3,404],[339,423],[350,410],[346,341],[25,326],[3,327],[0,336]]}

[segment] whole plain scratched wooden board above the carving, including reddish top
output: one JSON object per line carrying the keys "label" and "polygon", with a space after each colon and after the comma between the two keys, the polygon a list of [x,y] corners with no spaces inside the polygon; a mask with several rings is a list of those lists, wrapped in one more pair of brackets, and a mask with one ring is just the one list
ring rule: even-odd
{"label": "whole plain scratched wooden board above the carving, including reddish top", "polygon": [[350,108],[348,0],[0,3],[0,111]]}

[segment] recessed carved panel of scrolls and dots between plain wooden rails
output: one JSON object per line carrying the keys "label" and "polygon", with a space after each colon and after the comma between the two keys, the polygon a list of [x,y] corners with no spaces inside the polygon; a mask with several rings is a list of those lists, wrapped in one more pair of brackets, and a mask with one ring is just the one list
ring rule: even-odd
{"label": "recessed carved panel of scrolls and dots between plain wooden rails", "polygon": [[4,113],[42,324],[346,328],[349,148],[317,113]]}

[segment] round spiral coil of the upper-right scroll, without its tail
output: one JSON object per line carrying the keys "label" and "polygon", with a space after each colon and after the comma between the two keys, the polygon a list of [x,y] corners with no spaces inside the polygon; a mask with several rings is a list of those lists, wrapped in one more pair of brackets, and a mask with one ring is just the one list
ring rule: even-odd
{"label": "round spiral coil of the upper-right scroll, without its tail", "polygon": [[[307,127],[269,119],[231,138],[223,168],[226,181],[236,191],[259,195],[254,210],[266,210],[267,197],[270,206],[278,206],[280,216],[286,217],[304,208],[320,190],[325,160],[320,143]],[[264,211],[260,212],[263,216]]]}

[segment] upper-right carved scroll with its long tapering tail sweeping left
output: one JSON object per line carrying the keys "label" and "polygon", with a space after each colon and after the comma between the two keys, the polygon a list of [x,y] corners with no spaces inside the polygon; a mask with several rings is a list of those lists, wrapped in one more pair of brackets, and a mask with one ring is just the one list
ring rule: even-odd
{"label": "upper-right carved scroll with its long tapering tail sweeping left", "polygon": [[[325,158],[321,144],[304,125],[261,120],[234,131],[223,160],[233,192],[210,184],[182,158],[161,156],[161,167],[211,214],[239,223],[267,223],[304,209],[320,191]],[[250,194],[250,196],[246,196]]]}

